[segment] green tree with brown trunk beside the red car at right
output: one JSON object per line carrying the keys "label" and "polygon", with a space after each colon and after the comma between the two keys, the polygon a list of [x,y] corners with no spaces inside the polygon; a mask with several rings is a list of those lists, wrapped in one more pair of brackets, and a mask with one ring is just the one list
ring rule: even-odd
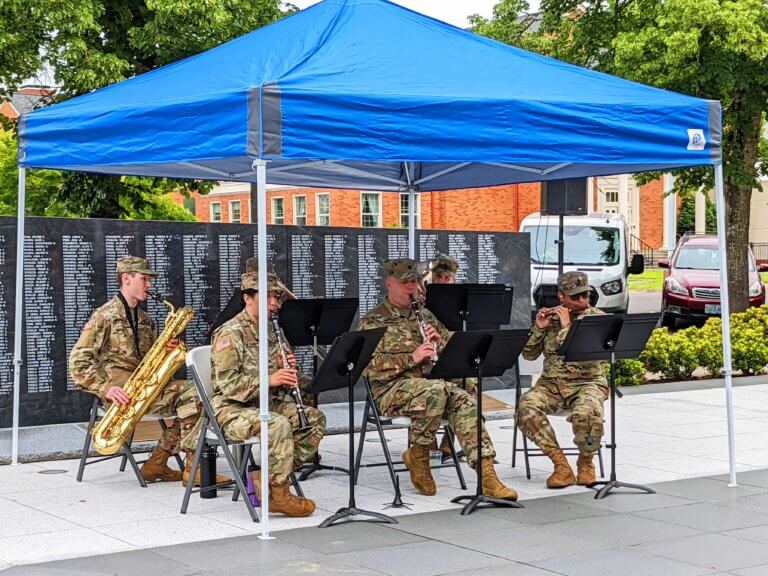
{"label": "green tree with brown trunk beside the red car at right", "polygon": [[[723,107],[728,291],[747,307],[752,191],[768,171],[768,5],[764,0],[542,0],[541,26],[520,31],[522,0],[503,0],[475,30],[555,58]],[[762,166],[762,168],[760,168]],[[712,183],[711,168],[675,172],[676,190]]]}

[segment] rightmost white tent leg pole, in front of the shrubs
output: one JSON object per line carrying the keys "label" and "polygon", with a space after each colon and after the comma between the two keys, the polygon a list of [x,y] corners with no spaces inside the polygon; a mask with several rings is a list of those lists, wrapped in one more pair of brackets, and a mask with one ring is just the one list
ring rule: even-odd
{"label": "rightmost white tent leg pole, in front of the shrubs", "polygon": [[723,375],[725,376],[725,407],[728,415],[728,486],[736,483],[736,443],[733,417],[733,366],[731,364],[731,308],[728,302],[728,266],[725,239],[725,192],[723,190],[723,166],[715,166],[715,200],[717,201],[717,246],[720,252],[720,307],[723,319]]}

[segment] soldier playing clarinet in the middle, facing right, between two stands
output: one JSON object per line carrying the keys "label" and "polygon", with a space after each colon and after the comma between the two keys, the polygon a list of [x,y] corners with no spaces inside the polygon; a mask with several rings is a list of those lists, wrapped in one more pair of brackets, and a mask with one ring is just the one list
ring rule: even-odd
{"label": "soldier playing clarinet in the middle, facing right, between two stands", "polygon": [[419,293],[419,281],[423,276],[417,263],[409,259],[387,260],[384,273],[387,298],[360,322],[361,330],[387,328],[366,374],[382,414],[411,418],[412,445],[403,454],[403,462],[414,487],[427,495],[437,491],[429,467],[429,447],[440,427],[440,420],[448,418],[468,464],[474,468],[480,460],[485,494],[517,499],[517,493],[504,486],[496,476],[493,467],[495,451],[485,430],[478,457],[475,398],[454,382],[423,377],[435,349],[442,350],[451,334],[429,310],[423,309],[428,341],[422,342],[409,298]]}

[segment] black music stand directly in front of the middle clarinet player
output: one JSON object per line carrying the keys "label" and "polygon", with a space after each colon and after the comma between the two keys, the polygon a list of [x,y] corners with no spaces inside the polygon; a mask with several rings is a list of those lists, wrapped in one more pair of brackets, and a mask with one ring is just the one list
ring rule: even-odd
{"label": "black music stand directly in front of the middle clarinet player", "polygon": [[474,512],[480,504],[522,508],[513,500],[492,498],[483,494],[483,471],[480,465],[480,448],[483,445],[483,376],[501,376],[515,365],[517,357],[528,341],[528,330],[483,330],[456,332],[448,340],[440,359],[427,378],[450,380],[453,378],[477,378],[477,491],[474,496],[457,496],[451,502],[469,502],[461,510],[462,516]]}

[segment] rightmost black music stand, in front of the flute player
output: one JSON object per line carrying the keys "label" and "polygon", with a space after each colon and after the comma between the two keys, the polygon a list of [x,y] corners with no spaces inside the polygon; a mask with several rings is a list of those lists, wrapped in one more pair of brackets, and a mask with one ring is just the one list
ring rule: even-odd
{"label": "rightmost black music stand, in front of the flute player", "polygon": [[616,360],[637,358],[659,322],[660,314],[605,314],[582,316],[573,322],[568,337],[560,347],[566,362],[609,360],[611,362],[611,477],[592,482],[588,488],[603,485],[595,499],[605,498],[614,488],[634,488],[648,494],[656,491],[641,484],[616,480]]}

